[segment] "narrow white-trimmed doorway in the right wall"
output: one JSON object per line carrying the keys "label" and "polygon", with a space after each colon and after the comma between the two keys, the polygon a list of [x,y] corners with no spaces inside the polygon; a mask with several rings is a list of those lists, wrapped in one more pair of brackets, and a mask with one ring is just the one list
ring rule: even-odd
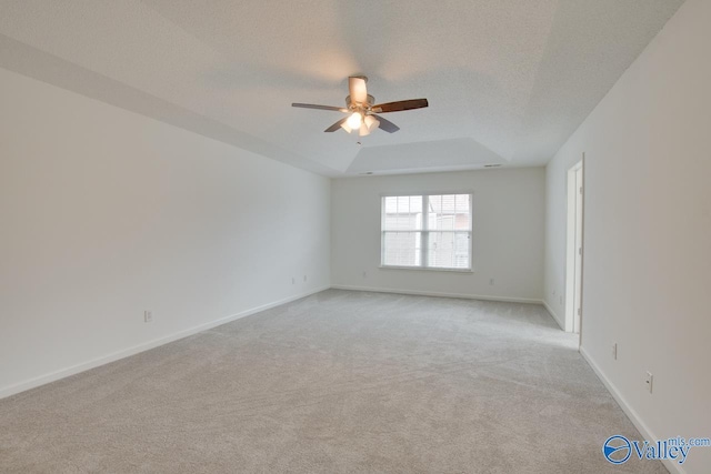
{"label": "narrow white-trimmed doorway in the right wall", "polygon": [[568,170],[568,239],[565,263],[565,331],[580,333],[582,322],[583,162]]}

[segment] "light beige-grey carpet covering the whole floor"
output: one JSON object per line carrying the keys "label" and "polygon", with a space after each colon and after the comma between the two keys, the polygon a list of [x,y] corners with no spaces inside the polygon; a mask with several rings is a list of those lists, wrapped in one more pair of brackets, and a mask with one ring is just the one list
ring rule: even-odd
{"label": "light beige-grey carpet covering the whole floor", "polygon": [[0,401],[0,471],[667,472],[613,434],[543,307],[329,290]]}

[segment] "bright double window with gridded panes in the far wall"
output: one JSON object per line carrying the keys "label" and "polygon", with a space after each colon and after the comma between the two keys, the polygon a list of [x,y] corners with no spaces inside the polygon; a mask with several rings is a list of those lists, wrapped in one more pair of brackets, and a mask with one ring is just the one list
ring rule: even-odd
{"label": "bright double window with gridded panes in the far wall", "polygon": [[382,198],[381,264],[471,270],[471,194]]}

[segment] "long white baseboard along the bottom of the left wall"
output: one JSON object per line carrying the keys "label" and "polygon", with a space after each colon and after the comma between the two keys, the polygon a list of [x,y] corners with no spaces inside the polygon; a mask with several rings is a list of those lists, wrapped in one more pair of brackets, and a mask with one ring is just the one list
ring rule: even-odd
{"label": "long white baseboard along the bottom of the left wall", "polygon": [[209,329],[217,327],[217,326],[220,326],[222,324],[230,323],[232,321],[236,321],[236,320],[239,320],[241,317],[246,317],[246,316],[252,315],[254,313],[259,313],[261,311],[266,311],[266,310],[269,310],[269,309],[272,309],[272,307],[276,307],[276,306],[280,306],[282,304],[290,303],[290,302],[296,301],[296,300],[301,300],[302,297],[310,296],[310,295],[316,294],[316,293],[320,293],[320,292],[322,292],[324,290],[328,290],[330,286],[321,286],[321,288],[318,288],[316,290],[311,290],[311,291],[308,291],[308,292],[304,292],[304,293],[300,293],[298,295],[284,297],[282,300],[278,300],[278,301],[274,301],[274,302],[271,302],[271,303],[262,304],[260,306],[251,307],[249,310],[241,311],[241,312],[239,312],[237,314],[232,314],[232,315],[229,315],[229,316],[220,317],[219,320],[210,321],[209,323],[203,323],[203,324],[200,324],[200,325],[187,329],[187,330],[178,331],[176,333],[172,333],[172,334],[159,337],[159,339],[154,339],[154,340],[141,343],[141,344],[133,345],[131,347],[123,349],[121,351],[112,352],[110,354],[103,355],[101,357],[92,359],[91,361],[83,362],[81,364],[72,365],[72,366],[66,367],[66,369],[60,369],[58,371],[50,372],[48,374],[43,374],[43,375],[33,377],[33,379],[27,380],[24,382],[20,382],[20,383],[10,385],[10,386],[2,387],[2,389],[0,389],[0,399],[6,399],[8,396],[18,394],[20,392],[24,392],[27,390],[34,389],[34,387],[38,387],[40,385],[44,385],[44,384],[48,384],[50,382],[54,382],[54,381],[58,381],[60,379],[68,377],[70,375],[74,375],[74,374],[88,371],[90,369],[94,369],[94,367],[98,367],[100,365],[104,365],[104,364],[108,364],[110,362],[118,361],[120,359],[129,357],[129,356],[138,354],[140,352],[148,351],[150,349],[154,349],[154,347],[158,347],[160,345],[168,344],[170,342],[178,341],[178,340],[183,339],[183,337],[188,337],[188,336],[197,334],[199,332],[207,331]]}

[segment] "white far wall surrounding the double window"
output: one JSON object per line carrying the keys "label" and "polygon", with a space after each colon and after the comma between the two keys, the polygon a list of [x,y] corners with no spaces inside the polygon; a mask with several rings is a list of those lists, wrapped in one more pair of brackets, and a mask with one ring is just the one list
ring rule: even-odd
{"label": "white far wall surrounding the double window", "polygon": [[[544,174],[521,168],[333,180],[332,284],[540,302]],[[428,191],[473,191],[473,273],[379,268],[381,194]]]}

